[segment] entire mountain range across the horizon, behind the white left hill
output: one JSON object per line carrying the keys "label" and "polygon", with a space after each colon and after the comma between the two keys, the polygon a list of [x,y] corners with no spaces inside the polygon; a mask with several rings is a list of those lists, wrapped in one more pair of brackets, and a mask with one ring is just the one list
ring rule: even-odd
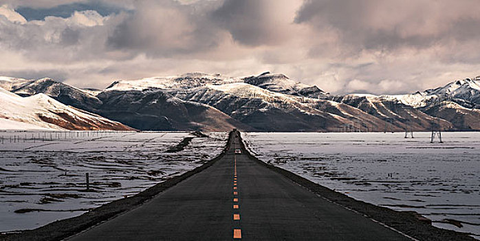
{"label": "entire mountain range across the horizon, behind the white left hill", "polygon": [[[403,132],[480,129],[480,76],[404,95],[332,95],[283,74],[221,74],[114,81],[80,89],[50,78],[0,78],[23,96],[43,94],[68,107],[142,130]],[[1,116],[0,116],[1,117]]]}

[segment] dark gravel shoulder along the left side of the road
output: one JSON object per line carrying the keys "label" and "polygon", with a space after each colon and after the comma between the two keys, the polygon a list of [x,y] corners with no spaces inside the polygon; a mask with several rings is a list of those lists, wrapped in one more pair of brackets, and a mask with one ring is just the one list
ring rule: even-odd
{"label": "dark gravel shoulder along the left side of the road", "polygon": [[45,226],[36,229],[21,231],[21,233],[6,233],[0,235],[0,240],[63,240],[75,235],[76,233],[80,233],[81,231],[89,229],[90,227],[94,227],[100,222],[105,222],[106,220],[130,211],[131,209],[135,209],[136,207],[144,204],[144,202],[151,200],[158,193],[161,193],[162,191],[177,185],[179,182],[186,180],[190,176],[207,169],[216,163],[217,160],[223,158],[228,149],[230,149],[233,133],[233,131],[229,132],[228,140],[221,153],[212,160],[208,160],[206,163],[204,163],[204,165],[196,167],[193,170],[186,171],[184,174],[179,176],[174,176],[173,178],[170,178],[164,182],[157,183],[156,185],[153,185],[152,187],[149,187],[148,189],[145,189],[134,196],[118,199],[100,207],[96,207],[95,209],[92,209],[87,213],[83,213],[80,216],[51,222],[50,224],[46,224]]}

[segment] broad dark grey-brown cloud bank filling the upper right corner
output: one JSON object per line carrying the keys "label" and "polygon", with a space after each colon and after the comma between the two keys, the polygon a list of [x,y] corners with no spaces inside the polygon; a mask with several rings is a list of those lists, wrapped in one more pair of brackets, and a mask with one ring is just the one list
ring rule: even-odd
{"label": "broad dark grey-brown cloud bank filling the upper right corner", "polygon": [[333,28],[353,50],[430,48],[471,41],[478,31],[480,1],[306,1],[296,23]]}

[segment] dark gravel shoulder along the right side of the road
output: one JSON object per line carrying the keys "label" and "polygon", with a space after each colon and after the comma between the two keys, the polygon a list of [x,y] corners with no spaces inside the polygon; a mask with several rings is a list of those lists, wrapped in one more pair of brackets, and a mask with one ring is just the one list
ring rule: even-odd
{"label": "dark gravel shoulder along the right side of the road", "polygon": [[415,212],[395,211],[386,207],[380,207],[377,205],[372,205],[368,202],[356,200],[343,193],[339,193],[337,191],[329,189],[328,187],[319,185],[316,182],[312,182],[307,178],[298,176],[291,171],[287,171],[286,169],[282,169],[280,167],[265,163],[251,154],[250,149],[247,149],[245,143],[243,142],[241,133],[237,133],[240,138],[241,149],[243,153],[246,154],[250,159],[257,161],[257,163],[259,163],[260,165],[263,165],[268,169],[271,169],[272,171],[281,174],[285,178],[292,180],[301,187],[312,191],[316,195],[320,196],[320,198],[324,198],[329,202],[334,202],[341,207],[345,207],[346,209],[349,209],[356,213],[360,213],[361,215],[370,218],[375,222],[379,222],[380,224],[383,224],[384,226],[389,227],[394,231],[398,231],[406,235],[408,238],[414,238],[417,240],[475,241],[474,238],[472,238],[466,233],[460,233],[457,231],[439,229],[437,227],[434,227],[430,224],[430,222],[428,222],[428,220],[419,219],[422,216],[419,216]]}

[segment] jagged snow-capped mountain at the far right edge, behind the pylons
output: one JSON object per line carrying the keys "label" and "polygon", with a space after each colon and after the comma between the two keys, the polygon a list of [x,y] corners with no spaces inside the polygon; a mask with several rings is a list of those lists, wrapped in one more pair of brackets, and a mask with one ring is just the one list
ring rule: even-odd
{"label": "jagged snow-capped mountain at the far right edge, behind the pylons", "polygon": [[332,100],[413,129],[436,122],[444,129],[479,129],[480,76],[453,81],[444,87],[403,95],[347,94]]}

